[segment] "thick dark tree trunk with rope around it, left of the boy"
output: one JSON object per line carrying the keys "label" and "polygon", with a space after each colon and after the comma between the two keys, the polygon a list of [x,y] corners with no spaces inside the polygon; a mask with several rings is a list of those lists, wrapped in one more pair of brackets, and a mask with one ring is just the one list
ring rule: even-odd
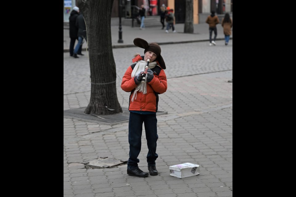
{"label": "thick dark tree trunk with rope around it, left of the boy", "polygon": [[111,42],[113,0],[77,0],[84,16],[89,54],[91,95],[84,113],[122,112],[116,93],[116,66]]}

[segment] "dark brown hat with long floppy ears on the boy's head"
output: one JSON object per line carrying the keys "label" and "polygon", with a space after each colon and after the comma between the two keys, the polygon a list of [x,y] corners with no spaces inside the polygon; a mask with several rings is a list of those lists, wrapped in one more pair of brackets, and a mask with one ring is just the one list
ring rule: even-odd
{"label": "dark brown hat with long floppy ears on the boy's head", "polygon": [[134,45],[145,49],[144,54],[147,51],[151,51],[151,52],[155,53],[156,54],[156,59],[155,60],[158,62],[159,66],[163,70],[166,69],[166,64],[163,61],[163,58],[162,58],[162,56],[160,54],[161,53],[161,48],[156,42],[151,42],[150,44],[148,44],[148,42],[146,40],[142,39],[142,38],[135,38],[134,39]]}

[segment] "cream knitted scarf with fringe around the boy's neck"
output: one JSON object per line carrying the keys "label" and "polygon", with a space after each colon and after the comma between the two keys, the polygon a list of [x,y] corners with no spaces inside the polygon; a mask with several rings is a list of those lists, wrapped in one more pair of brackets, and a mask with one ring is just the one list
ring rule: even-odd
{"label": "cream knitted scarf with fringe around the boy's neck", "polygon": [[[138,76],[138,74],[140,74],[141,72],[143,72],[145,70],[146,65],[147,65],[147,62],[145,62],[144,60],[139,60],[136,64],[136,66],[134,67],[131,77],[134,78],[135,76]],[[151,69],[151,68],[154,68],[155,66],[156,66],[156,62],[149,62],[148,68]],[[147,78],[147,76],[146,76],[146,78]],[[132,97],[132,102],[134,101],[134,99],[137,99],[137,91],[143,92],[143,94],[147,93],[146,81],[145,81],[145,83],[140,82],[138,84],[138,86],[136,87],[136,90],[134,91],[134,94]]]}

